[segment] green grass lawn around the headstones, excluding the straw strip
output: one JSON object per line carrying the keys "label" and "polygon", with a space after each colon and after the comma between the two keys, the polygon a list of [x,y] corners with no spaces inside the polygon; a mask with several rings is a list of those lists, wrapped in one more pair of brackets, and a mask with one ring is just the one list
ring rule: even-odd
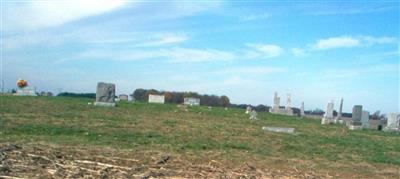
{"label": "green grass lawn around the headstones, excluding the straw strip", "polygon": [[[119,102],[88,105],[87,98],[0,96],[0,142],[157,150],[191,162],[217,160],[320,173],[400,177],[400,135],[349,131],[319,120],[244,110]],[[296,134],[263,126],[294,127]],[[398,173],[397,173],[398,171]]]}

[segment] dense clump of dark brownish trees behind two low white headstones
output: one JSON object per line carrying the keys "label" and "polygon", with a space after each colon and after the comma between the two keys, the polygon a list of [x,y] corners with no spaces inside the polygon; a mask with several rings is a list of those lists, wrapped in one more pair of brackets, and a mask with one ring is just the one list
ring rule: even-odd
{"label": "dense clump of dark brownish trees behind two low white headstones", "polygon": [[186,97],[200,98],[200,105],[205,106],[230,106],[228,96],[216,96],[216,95],[202,95],[196,92],[175,92],[175,91],[158,91],[155,89],[136,89],[131,95],[133,99],[137,101],[148,101],[149,94],[164,95],[166,103],[183,103],[183,99]]}

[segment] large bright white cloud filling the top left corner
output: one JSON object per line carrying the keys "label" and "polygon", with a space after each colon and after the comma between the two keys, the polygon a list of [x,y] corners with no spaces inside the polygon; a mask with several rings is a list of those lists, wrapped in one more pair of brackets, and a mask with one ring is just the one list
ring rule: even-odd
{"label": "large bright white cloud filling the top left corner", "polygon": [[63,0],[4,3],[4,30],[35,30],[121,7],[122,0]]}

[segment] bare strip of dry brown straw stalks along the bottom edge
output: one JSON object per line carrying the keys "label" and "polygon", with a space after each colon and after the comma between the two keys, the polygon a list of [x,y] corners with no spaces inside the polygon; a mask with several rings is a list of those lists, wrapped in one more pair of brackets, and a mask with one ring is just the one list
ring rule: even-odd
{"label": "bare strip of dry brown straw stalks along the bottom edge", "polygon": [[0,178],[332,178],[314,172],[190,163],[157,151],[0,144]]}

